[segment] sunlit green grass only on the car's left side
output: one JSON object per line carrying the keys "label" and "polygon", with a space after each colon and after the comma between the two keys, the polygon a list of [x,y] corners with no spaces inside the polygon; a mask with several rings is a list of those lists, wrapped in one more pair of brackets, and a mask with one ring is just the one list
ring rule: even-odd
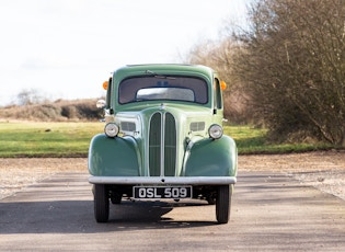
{"label": "sunlit green grass only on the car's left side", "polygon": [[102,123],[0,123],[0,157],[87,157]]}

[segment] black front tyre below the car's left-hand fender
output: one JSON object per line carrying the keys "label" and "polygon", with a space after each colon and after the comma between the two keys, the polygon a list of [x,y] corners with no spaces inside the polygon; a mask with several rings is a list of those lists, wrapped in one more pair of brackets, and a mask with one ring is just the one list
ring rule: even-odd
{"label": "black front tyre below the car's left-hand fender", "polygon": [[110,218],[110,197],[105,185],[94,185],[93,204],[95,220],[106,222]]}

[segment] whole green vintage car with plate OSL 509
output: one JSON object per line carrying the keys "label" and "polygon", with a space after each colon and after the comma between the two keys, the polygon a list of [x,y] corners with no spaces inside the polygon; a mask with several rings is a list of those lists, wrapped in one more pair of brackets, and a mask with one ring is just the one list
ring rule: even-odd
{"label": "whole green vintage car with plate OSL 509", "polygon": [[89,149],[97,222],[123,198],[207,201],[219,224],[229,221],[238,151],[223,135],[225,87],[205,66],[133,65],[113,73],[97,103],[104,134]]}

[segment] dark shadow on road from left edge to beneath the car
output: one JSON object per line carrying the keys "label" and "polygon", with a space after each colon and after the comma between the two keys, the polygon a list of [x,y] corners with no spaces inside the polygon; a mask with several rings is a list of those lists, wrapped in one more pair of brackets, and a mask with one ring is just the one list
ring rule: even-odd
{"label": "dark shadow on road from left edge to beneath the car", "polygon": [[93,233],[216,225],[212,216],[209,221],[176,221],[164,217],[175,207],[197,205],[124,201],[119,205],[111,205],[108,222],[97,224],[92,201],[0,202],[0,234]]}

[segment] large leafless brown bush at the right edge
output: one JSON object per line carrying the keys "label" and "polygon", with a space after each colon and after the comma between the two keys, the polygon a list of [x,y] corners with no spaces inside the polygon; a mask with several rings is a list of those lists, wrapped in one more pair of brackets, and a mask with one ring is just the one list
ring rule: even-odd
{"label": "large leafless brown bush at the right edge", "polygon": [[233,67],[271,131],[345,146],[345,1],[262,0],[250,18]]}

